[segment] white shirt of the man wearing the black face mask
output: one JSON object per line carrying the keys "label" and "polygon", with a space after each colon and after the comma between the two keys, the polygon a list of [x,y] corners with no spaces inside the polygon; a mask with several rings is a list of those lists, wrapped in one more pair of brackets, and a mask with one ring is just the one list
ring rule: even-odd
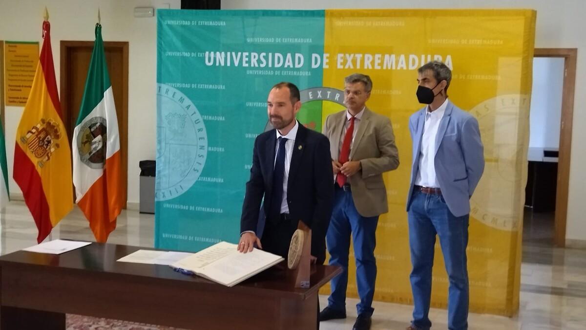
{"label": "white shirt of the man wearing the black face mask", "polygon": [[425,122],[423,124],[423,136],[421,137],[421,153],[419,156],[419,170],[415,179],[416,186],[439,188],[440,183],[435,177],[435,138],[438,134],[438,128],[442,117],[444,117],[445,108],[448,106],[448,99],[435,111],[430,112],[430,106],[427,106],[425,112]]}

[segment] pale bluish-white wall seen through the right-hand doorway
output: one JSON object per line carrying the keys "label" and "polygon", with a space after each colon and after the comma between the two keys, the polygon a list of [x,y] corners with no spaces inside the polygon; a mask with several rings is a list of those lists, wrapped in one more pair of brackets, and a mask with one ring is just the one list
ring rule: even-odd
{"label": "pale bluish-white wall seen through the right-hand doorway", "polygon": [[563,86],[563,58],[533,59],[533,88],[529,112],[530,148],[558,149]]}

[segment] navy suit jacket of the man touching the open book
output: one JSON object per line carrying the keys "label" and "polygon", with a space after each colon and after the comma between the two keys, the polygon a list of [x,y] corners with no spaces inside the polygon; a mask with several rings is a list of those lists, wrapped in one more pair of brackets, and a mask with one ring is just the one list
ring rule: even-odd
{"label": "navy suit jacket of the man touching the open book", "polygon": [[[271,205],[272,176],[275,163],[277,133],[274,129],[260,134],[254,142],[253,166],[246,183],[246,195],[240,218],[240,233],[259,233],[265,221],[259,221],[261,201],[264,214]],[[303,221],[312,231],[311,251],[315,257],[325,254],[325,234],[333,207],[333,170],[329,140],[326,136],[307,129],[301,123],[295,137],[289,177],[287,204],[291,218]],[[263,214],[264,213],[264,214]],[[325,257],[325,255],[323,256]]]}

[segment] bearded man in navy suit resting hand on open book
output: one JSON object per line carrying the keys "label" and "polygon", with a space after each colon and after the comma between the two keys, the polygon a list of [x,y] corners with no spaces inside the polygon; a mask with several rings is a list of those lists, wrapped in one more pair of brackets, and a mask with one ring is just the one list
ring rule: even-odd
{"label": "bearded man in navy suit resting hand on open book", "polygon": [[[323,264],[333,205],[330,146],[327,137],[295,119],[300,108],[297,86],[282,82],[272,87],[267,112],[274,129],[254,142],[239,251],[252,251],[256,245],[287,259],[291,236],[303,221],[312,230],[312,261]],[[259,228],[263,197],[265,221],[264,228]],[[262,237],[257,237],[259,232]]]}

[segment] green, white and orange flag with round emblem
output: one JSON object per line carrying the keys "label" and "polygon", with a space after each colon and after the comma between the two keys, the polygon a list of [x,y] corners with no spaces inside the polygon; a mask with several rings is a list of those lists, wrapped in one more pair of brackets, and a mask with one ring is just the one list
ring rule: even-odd
{"label": "green, white and orange flag with round emblem", "polygon": [[96,41],[72,144],[77,206],[90,222],[96,241],[104,243],[116,228],[126,192],[120,180],[118,118],[101,31],[100,23],[96,24]]}

